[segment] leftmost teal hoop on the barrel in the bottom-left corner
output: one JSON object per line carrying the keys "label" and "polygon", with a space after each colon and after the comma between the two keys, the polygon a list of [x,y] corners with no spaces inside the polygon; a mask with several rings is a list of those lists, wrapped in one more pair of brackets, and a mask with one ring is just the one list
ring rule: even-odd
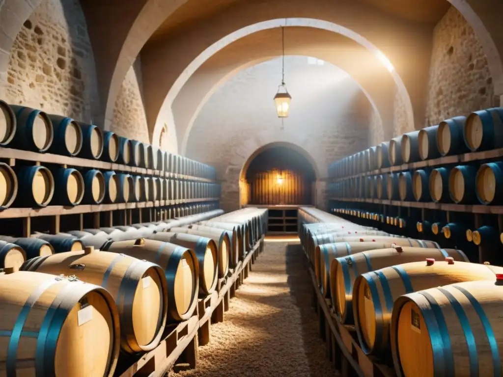
{"label": "leftmost teal hoop on the barrel in the bottom-left corner", "polygon": [[[16,319],[16,322],[10,334],[11,338],[9,339],[9,345],[7,347],[6,372],[8,377],[16,376],[16,359],[18,354],[19,340],[21,336],[23,336],[24,333],[23,327],[25,325],[28,314],[31,311],[31,308],[35,305],[40,296],[42,296],[42,294],[56,282],[58,282],[58,280],[56,280],[55,278],[44,281],[31,293],[28,299],[26,299],[25,305],[21,309],[21,312],[19,313],[18,318]],[[4,336],[9,335],[6,334]],[[36,338],[38,337],[38,333],[30,332],[30,337]]]}

